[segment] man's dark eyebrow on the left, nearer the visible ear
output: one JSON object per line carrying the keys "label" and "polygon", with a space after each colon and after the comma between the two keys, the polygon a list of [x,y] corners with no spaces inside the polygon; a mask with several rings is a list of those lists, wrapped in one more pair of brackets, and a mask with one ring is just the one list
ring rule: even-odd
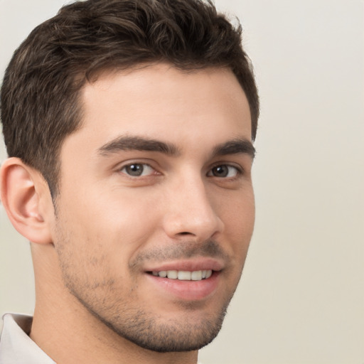
{"label": "man's dark eyebrow on the left, nearer the visible ear", "polygon": [[157,151],[169,156],[179,154],[178,149],[173,144],[164,141],[146,139],[142,137],[121,136],[109,141],[101,146],[97,151],[101,156],[109,156],[119,151]]}

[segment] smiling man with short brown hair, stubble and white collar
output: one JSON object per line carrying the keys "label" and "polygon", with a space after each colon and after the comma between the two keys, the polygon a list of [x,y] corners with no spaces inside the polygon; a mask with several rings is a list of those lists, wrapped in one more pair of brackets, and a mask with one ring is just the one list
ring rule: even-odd
{"label": "smiling man with short brown hair, stubble and white collar", "polygon": [[34,29],[1,88],[1,201],[36,309],[4,316],[0,363],[196,363],[252,236],[258,113],[210,3],[78,1]]}

